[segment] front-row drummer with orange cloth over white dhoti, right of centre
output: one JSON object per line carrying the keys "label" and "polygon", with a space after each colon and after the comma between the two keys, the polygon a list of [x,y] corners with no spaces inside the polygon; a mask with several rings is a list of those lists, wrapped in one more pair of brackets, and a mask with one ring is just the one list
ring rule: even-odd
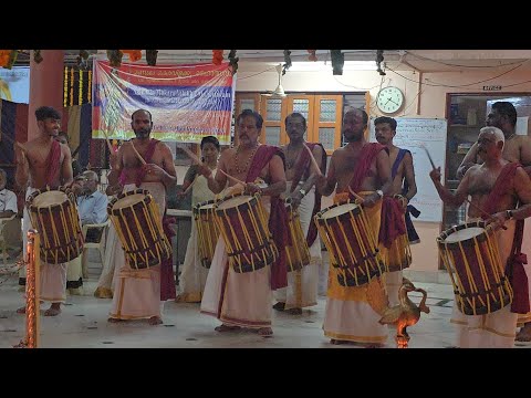
{"label": "front-row drummer with orange cloth over white dhoti, right of centre", "polygon": [[[385,146],[365,140],[367,122],[368,116],[362,109],[351,109],[344,115],[343,135],[348,144],[334,150],[329,172],[326,177],[319,178],[316,187],[324,196],[330,196],[336,189],[336,203],[354,200],[352,192],[361,196],[377,241],[382,198],[392,193],[393,181]],[[387,303],[382,277],[375,276],[362,286],[342,286],[335,273],[330,270],[324,335],[331,337],[332,344],[385,344],[387,327],[378,323],[378,311]]]}

